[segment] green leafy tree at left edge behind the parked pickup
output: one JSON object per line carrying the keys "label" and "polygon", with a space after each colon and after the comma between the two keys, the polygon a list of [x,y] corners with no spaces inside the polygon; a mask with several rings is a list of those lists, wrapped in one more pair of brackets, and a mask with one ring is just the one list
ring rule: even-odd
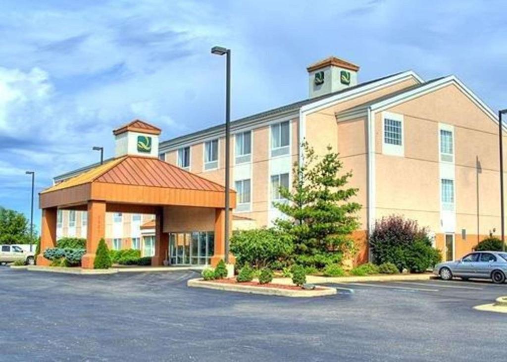
{"label": "green leafy tree at left edge behind the parked pickup", "polygon": [[[33,231],[33,243],[37,232]],[[29,244],[30,222],[21,212],[0,206],[0,244]]]}

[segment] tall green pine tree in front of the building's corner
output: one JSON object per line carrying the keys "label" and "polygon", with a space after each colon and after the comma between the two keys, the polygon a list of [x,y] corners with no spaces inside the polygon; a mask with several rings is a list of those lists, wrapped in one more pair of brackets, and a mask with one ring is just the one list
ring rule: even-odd
{"label": "tall green pine tree in front of the building's corner", "polygon": [[352,173],[341,174],[343,164],[331,147],[320,157],[306,142],[303,149],[303,164],[293,167],[292,190],[280,188],[287,201],[274,204],[288,217],[275,225],[292,237],[298,264],[322,268],[339,262],[340,251],[353,252],[350,234],[359,226],[361,205],[350,201],[358,190],[346,187]]}

